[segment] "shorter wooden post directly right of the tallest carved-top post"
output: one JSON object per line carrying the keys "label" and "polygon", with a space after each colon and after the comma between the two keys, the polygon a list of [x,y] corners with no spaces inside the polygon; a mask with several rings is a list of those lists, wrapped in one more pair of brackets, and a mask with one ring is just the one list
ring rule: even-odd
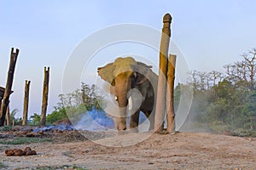
{"label": "shorter wooden post directly right of the tallest carved-top post", "polygon": [[175,131],[175,113],[173,105],[174,97],[174,79],[175,79],[175,65],[176,65],[176,55],[170,54],[168,62],[168,71],[167,71],[167,133]]}

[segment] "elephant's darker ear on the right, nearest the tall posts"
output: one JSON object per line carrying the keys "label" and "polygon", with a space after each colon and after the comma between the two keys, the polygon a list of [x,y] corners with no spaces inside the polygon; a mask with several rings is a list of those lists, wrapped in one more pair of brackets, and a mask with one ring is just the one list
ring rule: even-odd
{"label": "elephant's darker ear on the right, nearest the tall posts", "polygon": [[136,84],[142,84],[143,82],[148,81],[148,77],[150,77],[152,73],[152,65],[146,65],[142,62],[137,62],[137,65],[134,68],[134,71],[137,72]]}

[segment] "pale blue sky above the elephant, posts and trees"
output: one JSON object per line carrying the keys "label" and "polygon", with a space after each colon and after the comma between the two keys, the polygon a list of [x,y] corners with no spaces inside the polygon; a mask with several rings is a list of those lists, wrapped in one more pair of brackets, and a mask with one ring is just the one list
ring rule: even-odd
{"label": "pale blue sky above the elephant, posts and trees", "polygon": [[[31,80],[29,115],[41,113],[44,66],[49,66],[50,113],[62,93],[67,62],[84,39],[122,24],[161,31],[166,13],[172,14],[172,42],[189,69],[224,71],[223,65],[241,60],[241,54],[256,48],[255,8],[254,0],[0,0],[0,86],[5,87],[10,48],[19,48],[10,110],[18,109],[18,116],[22,115],[25,80]],[[101,40],[91,42],[97,41]],[[134,45],[124,42],[96,51],[95,59],[90,59],[90,69],[82,74],[96,77],[96,68],[118,57],[115,54],[136,54],[139,50],[149,54],[149,48]],[[104,55],[102,59],[100,55]],[[150,64],[158,65],[158,53],[151,55],[156,59],[150,59]],[[74,66],[73,73],[76,71]]]}

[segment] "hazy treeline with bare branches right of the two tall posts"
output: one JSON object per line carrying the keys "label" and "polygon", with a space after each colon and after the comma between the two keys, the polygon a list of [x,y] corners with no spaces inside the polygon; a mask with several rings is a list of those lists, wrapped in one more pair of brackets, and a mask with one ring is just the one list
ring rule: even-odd
{"label": "hazy treeline with bare branches right of the two tall posts", "polygon": [[194,92],[184,128],[256,136],[256,48],[241,57],[224,65],[225,73],[191,71],[191,81],[177,85],[176,108],[181,89],[192,87]]}

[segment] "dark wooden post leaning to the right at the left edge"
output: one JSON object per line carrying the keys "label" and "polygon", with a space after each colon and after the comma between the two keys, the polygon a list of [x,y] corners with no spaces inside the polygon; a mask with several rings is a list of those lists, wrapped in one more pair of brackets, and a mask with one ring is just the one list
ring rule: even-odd
{"label": "dark wooden post leaning to the right at the left edge", "polygon": [[13,81],[15,76],[15,65],[18,59],[19,52],[20,52],[19,49],[16,49],[16,53],[14,52],[14,48],[11,49],[6,88],[4,90],[3,101],[2,101],[1,110],[0,110],[0,126],[3,126],[5,121],[6,111],[9,105],[9,95],[12,93],[11,89],[13,86]]}

